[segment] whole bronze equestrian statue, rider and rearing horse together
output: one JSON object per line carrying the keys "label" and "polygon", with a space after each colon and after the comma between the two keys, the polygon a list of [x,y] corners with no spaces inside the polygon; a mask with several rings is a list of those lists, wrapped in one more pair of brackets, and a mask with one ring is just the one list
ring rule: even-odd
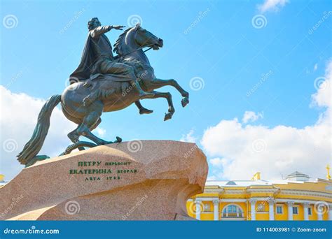
{"label": "whole bronze equestrian statue, rider and rearing horse together", "polygon": [[[174,114],[172,95],[169,92],[157,92],[155,89],[167,85],[175,87],[183,96],[182,106],[185,107],[189,103],[188,92],[176,80],[161,80],[155,77],[154,70],[144,53],[143,49],[147,47],[151,47],[153,50],[162,48],[162,39],[137,24],[120,34],[113,45],[113,52],[116,52],[117,56],[113,57],[111,52],[104,52],[105,49],[111,50],[111,48],[109,48],[109,41],[104,38],[103,33],[111,28],[121,29],[123,26],[101,27],[99,21],[96,20],[96,18],[90,20],[90,23],[94,25],[90,27],[81,64],[71,74],[71,79],[74,78],[74,82],[64,89],[61,95],[51,96],[41,108],[32,138],[18,154],[20,164],[31,166],[36,161],[48,159],[46,155],[37,154],[48,133],[50,115],[58,103],[61,103],[64,116],[71,122],[78,124],[74,131],[68,133],[73,144],[69,145],[62,154],[69,154],[76,148],[84,150],[84,147],[121,142],[122,139],[119,137],[116,137],[113,142],[103,140],[91,131],[102,121],[103,112],[122,110],[132,103],[136,103],[139,107],[139,99],[160,97],[167,99],[168,112],[165,114],[164,120],[171,119]],[[94,38],[95,36],[91,34],[91,31],[96,27],[99,31],[99,39]],[[102,50],[98,49],[98,41],[101,37],[103,38]],[[109,44],[109,46],[104,44]],[[91,46],[95,49],[92,49]],[[85,136],[94,143],[80,141],[80,136]]]}

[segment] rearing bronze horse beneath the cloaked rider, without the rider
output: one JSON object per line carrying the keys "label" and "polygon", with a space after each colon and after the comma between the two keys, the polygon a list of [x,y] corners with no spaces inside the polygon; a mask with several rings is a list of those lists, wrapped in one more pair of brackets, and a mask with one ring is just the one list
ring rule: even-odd
{"label": "rearing bronze horse beneath the cloaked rider, without the rider", "polygon": [[[170,85],[175,87],[183,96],[182,106],[189,103],[189,94],[177,83],[176,80],[161,80],[155,78],[153,68],[146,57],[143,48],[151,46],[154,50],[162,48],[163,42],[160,38],[143,29],[139,24],[123,32],[114,45],[114,51],[118,54],[118,60],[134,67],[139,85],[146,92],[152,92],[151,99],[165,98],[168,102],[168,112],[164,120],[171,119],[174,114],[172,95],[169,92],[156,92],[154,89]],[[46,155],[37,155],[43,146],[43,142],[50,127],[50,115],[61,103],[64,116],[70,121],[78,124],[74,131],[68,134],[74,145],[67,147],[63,154],[67,154],[78,148],[93,147],[109,143],[118,143],[121,138],[113,142],[106,141],[95,136],[91,131],[95,129],[102,119],[103,112],[122,110],[139,100],[139,92],[129,82],[118,82],[108,80],[107,75],[100,75],[93,80],[92,87],[85,87],[84,81],[69,85],[62,94],[51,96],[41,108],[38,122],[34,129],[32,138],[27,142],[22,152],[18,154],[18,161],[25,166],[30,166],[36,161],[47,159]],[[80,136],[85,136],[95,144],[79,141]]]}

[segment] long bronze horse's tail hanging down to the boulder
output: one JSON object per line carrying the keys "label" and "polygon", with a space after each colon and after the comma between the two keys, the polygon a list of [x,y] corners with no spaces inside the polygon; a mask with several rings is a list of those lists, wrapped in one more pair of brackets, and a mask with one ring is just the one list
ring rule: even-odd
{"label": "long bronze horse's tail hanging down to the boulder", "polygon": [[38,115],[38,121],[36,127],[34,128],[34,133],[32,137],[25,144],[22,152],[18,154],[18,161],[21,164],[27,165],[29,162],[36,157],[36,155],[41,150],[44,140],[50,128],[50,115],[52,114],[53,109],[61,102],[61,95],[55,94],[51,96],[46,103],[44,103],[41,112]]}

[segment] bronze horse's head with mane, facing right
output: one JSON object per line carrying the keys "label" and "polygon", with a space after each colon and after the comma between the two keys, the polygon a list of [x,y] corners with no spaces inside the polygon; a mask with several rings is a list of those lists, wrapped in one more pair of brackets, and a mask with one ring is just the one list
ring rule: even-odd
{"label": "bronze horse's head with mane, facing right", "polygon": [[162,48],[162,39],[151,34],[150,31],[141,27],[141,24],[137,23],[135,27],[131,27],[123,32],[114,44],[113,52],[118,55],[126,55],[135,50],[141,50],[144,47],[152,47],[153,50]]}

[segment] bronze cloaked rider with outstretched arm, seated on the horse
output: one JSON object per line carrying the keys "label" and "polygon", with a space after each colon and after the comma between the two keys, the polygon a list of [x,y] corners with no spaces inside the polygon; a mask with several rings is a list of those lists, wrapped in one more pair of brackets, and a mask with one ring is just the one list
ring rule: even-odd
{"label": "bronze cloaked rider with outstretched arm, seated on the horse", "polygon": [[[112,25],[102,27],[97,17],[92,18],[88,22],[89,35],[83,50],[81,64],[71,74],[71,78],[84,80],[90,79],[90,75],[97,73],[114,74],[118,79],[117,81],[130,81],[131,85],[136,85],[139,91],[139,99],[146,99],[153,96],[153,93],[147,93],[141,89],[132,66],[114,60],[111,43],[104,35],[111,29],[122,30],[123,27]],[[86,87],[89,87],[91,84],[91,79],[85,82]],[[138,103],[138,105],[140,104]]]}

